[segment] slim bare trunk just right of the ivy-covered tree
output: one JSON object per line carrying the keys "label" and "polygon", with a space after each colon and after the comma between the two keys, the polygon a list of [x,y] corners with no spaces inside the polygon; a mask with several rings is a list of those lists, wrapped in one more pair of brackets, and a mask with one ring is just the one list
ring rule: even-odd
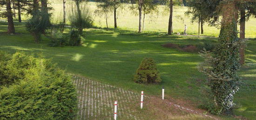
{"label": "slim bare trunk just right of the ivy-covered tree", "polygon": [[[241,12],[241,19],[240,19],[240,40],[245,38],[245,9],[242,8]],[[244,55],[245,44],[243,43],[241,48],[239,49],[240,53],[240,61],[239,63],[243,65],[245,63],[245,55]]]}

